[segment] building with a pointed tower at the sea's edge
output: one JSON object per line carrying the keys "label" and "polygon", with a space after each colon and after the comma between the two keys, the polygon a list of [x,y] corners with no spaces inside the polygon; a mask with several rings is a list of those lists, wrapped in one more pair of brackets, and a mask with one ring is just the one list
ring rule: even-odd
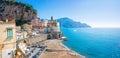
{"label": "building with a pointed tower at the sea's edge", "polygon": [[60,31],[60,23],[57,20],[54,20],[51,16],[51,20],[48,22],[48,39],[59,39],[62,36]]}

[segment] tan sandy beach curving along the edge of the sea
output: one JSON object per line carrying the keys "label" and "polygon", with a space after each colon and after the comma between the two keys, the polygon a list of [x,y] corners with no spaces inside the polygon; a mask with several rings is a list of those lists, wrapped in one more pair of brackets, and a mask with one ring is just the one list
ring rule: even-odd
{"label": "tan sandy beach curving along the edge of the sea", "polygon": [[45,44],[48,46],[39,58],[85,58],[62,44],[62,40],[47,40]]}

